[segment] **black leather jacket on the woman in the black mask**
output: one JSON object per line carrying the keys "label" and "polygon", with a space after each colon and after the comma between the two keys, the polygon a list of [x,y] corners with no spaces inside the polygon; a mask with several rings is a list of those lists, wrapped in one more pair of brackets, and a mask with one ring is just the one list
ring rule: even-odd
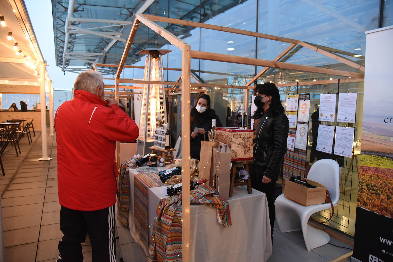
{"label": "black leather jacket on the woman in the black mask", "polygon": [[278,179],[286,153],[289,121],[283,112],[256,112],[254,115],[254,165],[266,166],[264,176]]}

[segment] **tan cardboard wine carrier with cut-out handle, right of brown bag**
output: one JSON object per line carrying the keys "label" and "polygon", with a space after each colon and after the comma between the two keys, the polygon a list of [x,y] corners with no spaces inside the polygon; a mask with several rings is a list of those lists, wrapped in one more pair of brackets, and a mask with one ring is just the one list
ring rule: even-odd
{"label": "tan cardboard wine carrier with cut-out handle, right of brown bag", "polygon": [[229,200],[231,184],[231,150],[227,144],[215,143],[212,156],[211,185],[219,196]]}

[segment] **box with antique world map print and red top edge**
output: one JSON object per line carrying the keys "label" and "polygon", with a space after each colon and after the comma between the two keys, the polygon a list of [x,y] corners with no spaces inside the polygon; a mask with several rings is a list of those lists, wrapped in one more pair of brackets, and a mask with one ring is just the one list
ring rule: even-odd
{"label": "box with antique world map print and red top edge", "polygon": [[253,135],[252,129],[215,128],[215,141],[228,145],[231,150],[231,161],[252,159]]}

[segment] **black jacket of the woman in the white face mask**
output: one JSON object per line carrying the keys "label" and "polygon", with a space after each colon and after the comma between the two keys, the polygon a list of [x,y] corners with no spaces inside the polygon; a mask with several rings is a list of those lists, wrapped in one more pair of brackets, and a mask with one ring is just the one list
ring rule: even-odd
{"label": "black jacket of the woman in the white face mask", "polygon": [[[194,131],[196,127],[204,128],[206,131],[211,130],[211,119],[215,118],[216,119],[216,127],[221,127],[221,121],[219,119],[219,116],[215,114],[216,112],[213,109],[208,109],[203,113],[197,113],[197,114],[203,114],[202,117],[204,119],[204,122],[202,124],[196,124],[194,122],[191,122],[191,132],[190,134]],[[206,138],[204,138],[204,135],[198,134],[195,138],[191,137],[191,158],[198,159],[200,158],[200,144],[202,140],[208,140],[208,133],[206,133]]]}

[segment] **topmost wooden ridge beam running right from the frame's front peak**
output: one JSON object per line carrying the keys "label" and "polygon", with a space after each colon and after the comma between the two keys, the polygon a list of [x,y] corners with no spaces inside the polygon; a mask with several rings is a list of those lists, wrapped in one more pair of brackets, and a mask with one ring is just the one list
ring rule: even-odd
{"label": "topmost wooden ridge beam running right from the frame's front peak", "polygon": [[259,37],[259,38],[265,38],[265,39],[270,39],[270,40],[276,40],[276,41],[292,43],[292,44],[298,43],[298,40],[291,39],[291,38],[277,37],[275,35],[267,35],[267,34],[263,34],[263,33],[256,33],[253,31],[246,31],[246,30],[235,29],[235,28],[231,28],[231,27],[215,26],[215,25],[211,25],[211,24],[203,24],[203,23],[198,23],[198,22],[191,22],[191,21],[174,19],[174,18],[169,18],[169,17],[162,17],[162,16],[154,16],[154,15],[143,15],[143,16],[145,16],[149,20],[157,21],[157,22],[178,24],[178,25],[191,26],[191,27],[200,27],[200,28],[212,29],[212,30],[223,31],[223,32],[228,32],[228,33],[235,33],[235,34],[239,34],[239,35],[248,35],[250,37]]}

